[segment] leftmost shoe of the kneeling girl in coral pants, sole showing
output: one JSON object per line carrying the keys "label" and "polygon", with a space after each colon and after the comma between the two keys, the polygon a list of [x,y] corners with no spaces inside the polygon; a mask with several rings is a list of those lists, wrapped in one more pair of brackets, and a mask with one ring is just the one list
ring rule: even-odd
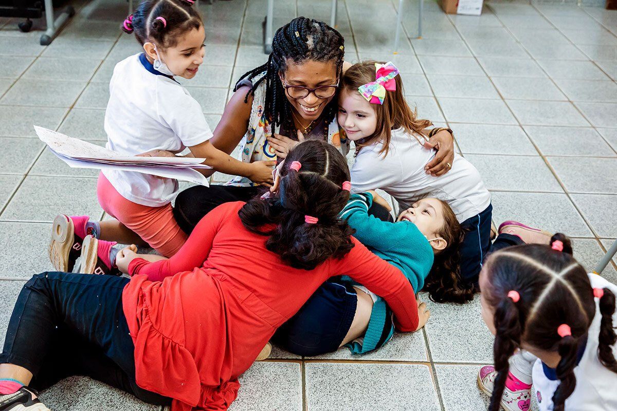
{"label": "leftmost shoe of the kneeling girl in coral pants, sole showing", "polygon": [[75,261],[81,254],[81,243],[86,237],[88,216],[59,214],[51,226],[49,261],[57,271],[72,272]]}

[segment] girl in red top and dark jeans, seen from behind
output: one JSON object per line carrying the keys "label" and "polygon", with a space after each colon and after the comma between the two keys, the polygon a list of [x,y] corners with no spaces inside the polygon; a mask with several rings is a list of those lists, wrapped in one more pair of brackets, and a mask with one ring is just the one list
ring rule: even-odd
{"label": "girl in red top and dark jeans, seen from behind", "polygon": [[14,394],[0,406],[46,410],[33,389],[80,374],[173,411],[226,410],[276,328],[333,275],[383,296],[397,330],[422,327],[408,280],[338,218],[348,181],[341,153],[309,140],[289,153],[270,198],[218,206],[172,258],[125,249],[130,280],[35,275],[0,355],[0,394]]}

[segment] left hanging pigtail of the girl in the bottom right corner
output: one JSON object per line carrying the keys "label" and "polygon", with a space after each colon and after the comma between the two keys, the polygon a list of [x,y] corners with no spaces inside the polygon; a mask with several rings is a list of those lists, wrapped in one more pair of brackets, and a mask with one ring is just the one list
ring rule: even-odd
{"label": "left hanging pigtail of the girl in the bottom right corner", "polygon": [[501,299],[495,309],[494,320],[497,333],[495,333],[495,343],[493,344],[493,356],[497,377],[489,403],[489,411],[499,411],[501,407],[503,389],[510,368],[509,360],[516,348],[520,347],[523,333],[518,307],[511,298]]}

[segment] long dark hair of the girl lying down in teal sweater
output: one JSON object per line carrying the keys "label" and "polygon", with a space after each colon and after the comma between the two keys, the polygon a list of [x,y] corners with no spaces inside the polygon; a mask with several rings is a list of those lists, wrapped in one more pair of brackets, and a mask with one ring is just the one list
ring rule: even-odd
{"label": "long dark hair of the girl lying down in teal sweater", "polygon": [[475,287],[465,283],[460,274],[460,245],[465,231],[450,205],[441,201],[444,210],[444,226],[436,233],[444,238],[447,246],[436,251],[433,267],[426,277],[423,291],[436,303],[463,304],[473,299]]}

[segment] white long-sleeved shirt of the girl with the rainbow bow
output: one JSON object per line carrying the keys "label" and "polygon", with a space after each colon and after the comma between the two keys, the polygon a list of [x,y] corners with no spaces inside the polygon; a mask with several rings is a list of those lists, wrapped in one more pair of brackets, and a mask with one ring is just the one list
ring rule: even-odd
{"label": "white long-sleeved shirt of the girl with the rainbow bow", "polygon": [[424,166],[433,160],[436,150],[425,149],[418,139],[399,128],[392,130],[385,157],[379,153],[381,142],[362,147],[351,169],[352,193],[382,189],[399,201],[401,210],[420,198],[436,197],[447,201],[458,222],[486,210],[491,194],[478,170],[455,154],[450,171],[439,177],[426,174]]}

